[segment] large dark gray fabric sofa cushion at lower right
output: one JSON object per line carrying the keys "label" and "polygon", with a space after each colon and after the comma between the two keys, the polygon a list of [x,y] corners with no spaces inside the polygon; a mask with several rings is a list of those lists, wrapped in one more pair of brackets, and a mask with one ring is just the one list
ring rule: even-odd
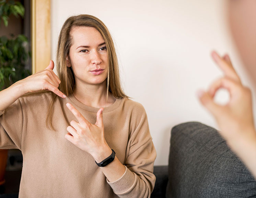
{"label": "large dark gray fabric sofa cushion at lower right", "polygon": [[256,181],[217,130],[187,122],[172,129],[166,197],[256,197]]}

